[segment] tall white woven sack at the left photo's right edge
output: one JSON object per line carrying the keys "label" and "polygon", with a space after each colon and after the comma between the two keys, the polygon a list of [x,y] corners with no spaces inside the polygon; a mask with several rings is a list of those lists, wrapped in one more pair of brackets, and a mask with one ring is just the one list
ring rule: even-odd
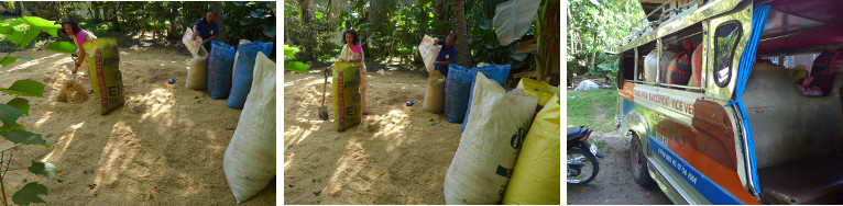
{"label": "tall white woven sack at the left photo's right edge", "polygon": [[275,178],[275,62],[258,53],[252,92],[222,158],[237,203],[251,198]]}

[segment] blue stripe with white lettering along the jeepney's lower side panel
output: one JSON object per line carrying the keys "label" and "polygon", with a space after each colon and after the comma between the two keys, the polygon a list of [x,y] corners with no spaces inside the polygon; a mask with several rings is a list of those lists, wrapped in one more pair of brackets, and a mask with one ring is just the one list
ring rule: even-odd
{"label": "blue stripe with white lettering along the jeepney's lower side panel", "polygon": [[656,152],[656,156],[665,160],[670,168],[681,175],[688,184],[693,186],[703,197],[715,205],[738,205],[744,204],[737,197],[729,193],[714,181],[702,174],[687,161],[679,158],[674,151],[661,145],[656,138],[649,136],[649,149]]}

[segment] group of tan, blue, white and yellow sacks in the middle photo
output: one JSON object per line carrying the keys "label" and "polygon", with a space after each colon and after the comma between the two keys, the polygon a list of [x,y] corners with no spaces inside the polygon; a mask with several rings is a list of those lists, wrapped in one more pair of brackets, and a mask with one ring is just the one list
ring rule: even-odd
{"label": "group of tan, blue, white and yellow sacks in the middle photo", "polygon": [[559,89],[523,78],[506,91],[508,73],[508,65],[431,71],[425,111],[444,111],[463,130],[445,176],[447,204],[560,203]]}

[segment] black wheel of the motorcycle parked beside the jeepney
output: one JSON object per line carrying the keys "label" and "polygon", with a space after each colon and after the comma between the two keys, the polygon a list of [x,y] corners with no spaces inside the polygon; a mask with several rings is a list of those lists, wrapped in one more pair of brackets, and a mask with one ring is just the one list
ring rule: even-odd
{"label": "black wheel of the motorcycle parked beside the jeepney", "polygon": [[568,148],[567,165],[569,185],[589,184],[600,172],[598,158],[580,148]]}

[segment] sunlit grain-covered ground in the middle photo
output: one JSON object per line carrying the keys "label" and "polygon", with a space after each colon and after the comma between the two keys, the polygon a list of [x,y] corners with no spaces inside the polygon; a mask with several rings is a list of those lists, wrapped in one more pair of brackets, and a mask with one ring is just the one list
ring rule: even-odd
{"label": "sunlit grain-covered ground in the middle photo", "polygon": [[321,73],[284,73],[284,204],[445,204],[460,125],[423,110],[424,73],[366,65],[372,114],[340,133],[318,116]]}

